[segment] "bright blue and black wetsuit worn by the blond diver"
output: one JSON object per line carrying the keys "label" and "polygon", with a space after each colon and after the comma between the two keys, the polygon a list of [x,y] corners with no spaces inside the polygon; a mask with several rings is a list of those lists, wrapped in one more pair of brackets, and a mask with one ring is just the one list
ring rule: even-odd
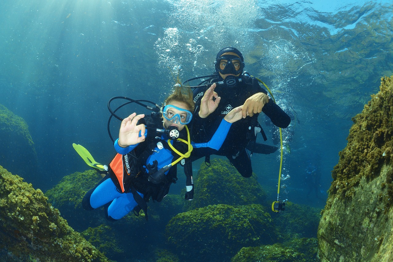
{"label": "bright blue and black wetsuit worn by the blond diver", "polygon": [[[228,123],[224,119],[222,119],[221,124],[217,128],[217,131],[215,132],[211,140],[202,143],[191,142],[191,145],[193,146],[194,150],[196,148],[211,148],[214,150],[219,150],[225,140],[226,135],[228,134],[230,127],[231,123]],[[154,141],[152,139],[149,139],[149,135],[150,138],[151,135],[156,135],[156,133],[150,133],[147,130],[148,129],[146,129],[145,133],[146,140],[140,144],[132,145],[127,148],[121,148],[118,145],[118,140],[116,140],[114,144],[116,151],[121,155],[126,155],[131,151],[135,151],[135,155],[138,160],[144,159],[140,157],[143,152],[146,151],[145,149],[143,149],[143,146],[146,147],[146,144],[148,144],[149,141],[150,143],[151,141]],[[183,131],[184,129],[180,133],[182,133]],[[173,151],[171,151],[169,147],[162,147],[168,141],[167,135],[162,135],[160,141],[162,141],[161,144],[154,144],[152,150],[149,150],[151,152],[149,153],[149,156],[144,159],[144,163],[141,163],[140,171],[142,171],[142,173],[149,173],[149,166],[154,166],[155,162],[157,163],[156,168],[160,170],[160,168],[162,168],[163,166],[171,164],[173,162],[173,159],[177,159],[179,157],[178,155],[174,155]],[[169,141],[173,146],[175,146],[175,144],[178,142],[178,140]],[[176,165],[172,166],[167,172],[165,172],[165,175],[168,176],[173,171],[176,171]],[[98,185],[96,185],[94,188],[92,188],[89,192],[86,193],[83,198],[83,207],[87,210],[92,210],[104,206],[106,210],[106,216],[110,220],[118,220],[123,216],[127,215],[130,211],[134,210],[134,208],[137,207],[138,204],[140,205],[140,202],[138,201],[140,197],[144,198],[144,200],[148,200],[149,197],[152,197],[153,200],[157,200],[157,194],[159,194],[162,190],[162,188],[160,187],[167,186],[167,188],[164,188],[164,190],[169,190],[169,185],[172,183],[172,181],[166,181],[158,185],[152,184],[150,181],[147,180],[147,177],[145,175],[140,175],[138,173],[138,178],[132,182],[131,188],[127,190],[127,192],[122,193],[121,190],[119,190],[119,187],[116,186],[113,182],[113,177],[111,177],[112,179],[108,178],[109,175],[107,177],[104,177],[98,183]],[[132,192],[132,189],[135,189],[136,192]],[[165,192],[167,193],[167,191]],[[136,193],[140,197],[137,196]],[[163,196],[158,197],[158,201],[161,201],[160,199],[162,199],[162,197]]]}

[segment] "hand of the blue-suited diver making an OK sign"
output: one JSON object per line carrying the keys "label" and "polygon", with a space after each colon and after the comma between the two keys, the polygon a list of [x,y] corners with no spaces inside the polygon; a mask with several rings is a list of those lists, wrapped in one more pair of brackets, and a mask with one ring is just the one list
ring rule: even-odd
{"label": "hand of the blue-suited diver making an OK sign", "polygon": [[145,117],[144,114],[136,115],[136,113],[132,113],[121,121],[118,140],[119,146],[126,148],[127,146],[136,145],[145,141],[146,127],[143,124],[137,125],[138,120],[143,117]]}

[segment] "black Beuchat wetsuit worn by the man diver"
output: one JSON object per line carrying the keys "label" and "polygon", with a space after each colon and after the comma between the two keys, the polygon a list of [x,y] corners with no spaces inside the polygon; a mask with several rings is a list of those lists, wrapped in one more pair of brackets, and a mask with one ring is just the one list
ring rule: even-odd
{"label": "black Beuchat wetsuit worn by the man diver", "polygon": [[[208,87],[194,89],[193,94],[196,107],[191,133],[195,142],[209,141],[219,126],[221,119],[231,109],[244,104],[250,96],[259,92],[267,94],[267,91],[259,85],[257,79],[254,77],[242,75],[241,79],[242,81],[237,83],[236,87],[229,88],[219,85],[215,88],[215,92],[221,97],[220,104],[213,113],[204,119],[199,117],[198,112],[200,100],[202,100],[203,94]],[[219,81],[222,81],[222,78],[217,75],[217,78],[208,79],[206,82],[201,83],[201,85]],[[274,103],[272,99],[269,99],[269,103],[264,105],[262,112],[278,127],[285,128],[290,123],[288,114]],[[196,159],[209,155],[226,156],[243,177],[250,177],[252,175],[252,166],[246,146],[248,146],[250,141],[255,141],[254,127],[260,127],[257,122],[258,115],[254,114],[252,117],[247,116],[233,123],[220,150],[217,151],[209,148],[194,149],[191,160],[195,161]]]}

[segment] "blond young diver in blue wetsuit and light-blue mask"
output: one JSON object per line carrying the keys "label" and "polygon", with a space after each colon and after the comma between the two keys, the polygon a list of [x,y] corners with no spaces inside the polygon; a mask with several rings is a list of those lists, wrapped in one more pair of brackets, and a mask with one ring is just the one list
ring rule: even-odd
{"label": "blond young diver in blue wetsuit and light-blue mask", "polygon": [[[201,118],[212,113],[220,102],[215,87],[213,84],[204,93],[199,111]],[[176,84],[173,93],[165,100],[162,116],[145,117],[132,113],[125,118],[121,122],[119,138],[114,142],[118,154],[110,163],[109,175],[86,193],[83,207],[93,210],[104,206],[109,220],[119,220],[132,210],[138,216],[142,209],[147,219],[146,202],[150,197],[160,202],[166,196],[171,183],[176,183],[178,162],[185,167],[187,176],[185,199],[192,200],[192,170],[187,170],[192,149],[220,149],[231,123],[242,118],[241,107],[231,110],[209,142],[193,143],[187,127],[193,111],[191,89]],[[164,129],[160,129],[162,127]]]}

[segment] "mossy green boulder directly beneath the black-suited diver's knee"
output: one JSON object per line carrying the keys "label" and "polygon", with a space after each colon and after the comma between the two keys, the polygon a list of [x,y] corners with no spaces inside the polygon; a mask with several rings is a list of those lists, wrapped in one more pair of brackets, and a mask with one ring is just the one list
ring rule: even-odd
{"label": "mossy green boulder directly beneath the black-suited diver's knee", "polygon": [[248,178],[242,177],[222,159],[212,159],[210,166],[202,163],[194,183],[194,199],[185,202],[186,210],[218,204],[261,204],[266,199],[266,192],[255,173]]}

